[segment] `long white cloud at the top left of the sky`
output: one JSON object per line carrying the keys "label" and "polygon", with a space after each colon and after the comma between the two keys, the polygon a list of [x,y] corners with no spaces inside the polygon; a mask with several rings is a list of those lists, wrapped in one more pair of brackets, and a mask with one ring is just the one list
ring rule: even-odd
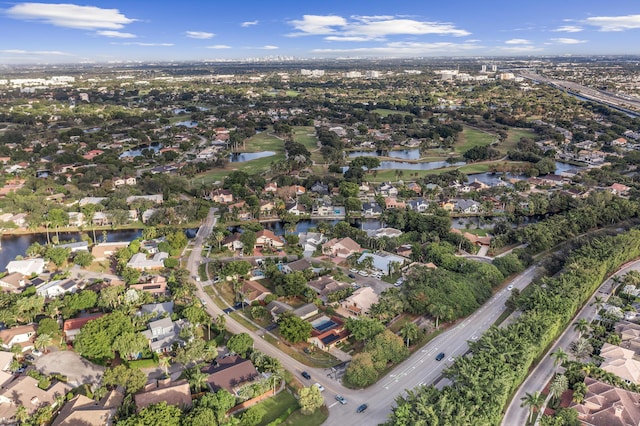
{"label": "long white cloud at the top left of the sky", "polygon": [[77,29],[118,30],[136,21],[127,18],[118,9],[102,9],[75,4],[18,3],[7,9],[5,14],[13,19]]}

